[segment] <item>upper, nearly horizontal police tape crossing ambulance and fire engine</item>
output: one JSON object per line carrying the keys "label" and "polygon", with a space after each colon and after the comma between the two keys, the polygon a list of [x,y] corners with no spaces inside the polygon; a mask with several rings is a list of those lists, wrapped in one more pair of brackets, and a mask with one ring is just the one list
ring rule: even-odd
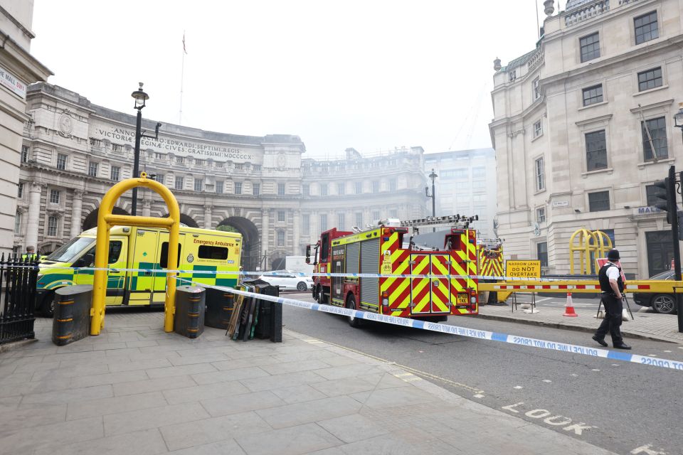
{"label": "upper, nearly horizontal police tape crossing ambulance and fire engine", "polygon": [[[305,272],[243,272],[238,270],[168,270],[168,269],[122,269],[112,267],[40,267],[34,265],[16,265],[11,266],[12,269],[44,269],[44,270],[78,270],[80,272],[95,272],[96,270],[104,270],[105,272],[143,272],[151,274],[208,274],[208,275],[240,275],[240,276],[258,276],[258,277],[346,277],[346,278],[438,278],[438,279],[487,279],[487,280],[504,280],[511,281],[529,281],[530,279],[539,280],[539,278],[524,278],[524,277],[497,277],[488,275],[436,275],[436,274],[379,274],[379,273],[305,273]],[[544,282],[565,282],[566,278],[544,278]],[[571,279],[571,281],[587,281],[595,282],[595,279]]]}

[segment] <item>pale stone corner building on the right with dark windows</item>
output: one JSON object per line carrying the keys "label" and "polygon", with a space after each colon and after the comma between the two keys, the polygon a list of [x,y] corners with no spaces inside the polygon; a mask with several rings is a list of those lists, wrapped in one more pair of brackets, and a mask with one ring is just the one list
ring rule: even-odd
{"label": "pale stone corner building on the right with dark windows", "polygon": [[683,170],[681,4],[570,0],[558,14],[553,4],[534,50],[494,62],[505,252],[567,273],[570,236],[586,227],[613,238],[628,272],[668,269],[670,227],[651,207],[652,183],[672,164]]}

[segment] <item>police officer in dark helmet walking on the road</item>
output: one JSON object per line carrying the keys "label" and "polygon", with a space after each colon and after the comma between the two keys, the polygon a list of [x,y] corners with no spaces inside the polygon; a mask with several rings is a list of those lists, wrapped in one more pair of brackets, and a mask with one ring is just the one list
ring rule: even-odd
{"label": "police officer in dark helmet walking on the road", "polygon": [[605,304],[605,319],[600,323],[598,331],[593,335],[593,340],[600,343],[602,346],[607,346],[605,335],[609,332],[612,336],[612,345],[617,349],[630,349],[628,344],[624,343],[621,338],[621,312],[623,310],[622,292],[624,291],[624,282],[621,279],[621,269],[615,262],[619,260],[619,251],[610,250],[607,254],[608,262],[600,267],[598,272],[598,280],[600,281],[600,290],[603,291],[602,299]]}

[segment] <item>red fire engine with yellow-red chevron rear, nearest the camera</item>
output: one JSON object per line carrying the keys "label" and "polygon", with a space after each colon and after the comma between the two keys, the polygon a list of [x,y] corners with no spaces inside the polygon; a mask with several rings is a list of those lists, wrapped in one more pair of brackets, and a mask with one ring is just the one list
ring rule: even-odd
{"label": "red fire engine with yellow-red chevron rear, nearest the camera", "polygon": [[[477,314],[477,237],[469,225],[477,217],[452,215],[418,220],[380,220],[358,232],[335,229],[322,232],[320,240],[306,250],[314,264],[313,296],[320,304],[344,306],[431,321],[449,315]],[[440,246],[415,243],[418,226],[450,225]],[[351,274],[404,274],[413,277],[352,277]],[[424,275],[425,277],[414,277]],[[427,277],[455,275],[458,277]],[[351,326],[360,321],[349,317]]]}

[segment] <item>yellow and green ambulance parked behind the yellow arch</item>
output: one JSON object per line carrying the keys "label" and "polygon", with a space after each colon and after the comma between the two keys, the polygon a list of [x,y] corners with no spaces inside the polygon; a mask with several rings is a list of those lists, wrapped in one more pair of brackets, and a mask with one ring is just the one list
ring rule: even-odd
{"label": "yellow and green ambulance parked behind the yellow arch", "polygon": [[[54,312],[55,289],[92,284],[97,228],[86,230],[40,263],[36,311]],[[181,279],[233,287],[240,270],[242,235],[181,226],[178,264]],[[115,226],[110,231],[107,300],[109,306],[163,306],[169,269],[169,232],[158,228]],[[142,269],[142,270],[141,270]],[[159,272],[156,272],[159,271]],[[216,272],[216,273],[198,273]],[[189,284],[178,280],[179,286]]]}

